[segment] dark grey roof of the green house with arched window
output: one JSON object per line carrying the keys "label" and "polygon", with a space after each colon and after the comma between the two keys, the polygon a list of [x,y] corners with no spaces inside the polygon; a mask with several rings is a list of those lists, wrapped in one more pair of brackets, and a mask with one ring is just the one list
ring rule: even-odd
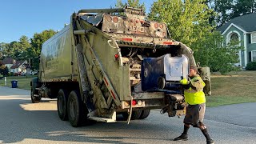
{"label": "dark grey roof of the green house with arched window", "polygon": [[245,30],[246,32],[256,31],[256,13],[246,14],[233,18],[230,20],[230,22],[227,22],[226,24],[219,27],[218,31],[223,33],[232,23],[242,30]]}

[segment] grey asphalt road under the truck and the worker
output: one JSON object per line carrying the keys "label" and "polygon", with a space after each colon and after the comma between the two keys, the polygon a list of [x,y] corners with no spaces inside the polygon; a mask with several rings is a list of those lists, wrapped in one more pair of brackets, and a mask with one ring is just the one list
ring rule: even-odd
{"label": "grey asphalt road under the truck and the worker", "polygon": [[[215,143],[256,143],[256,103],[206,108],[205,123]],[[206,143],[197,128],[189,141],[174,142],[182,133],[182,118],[159,110],[129,125],[97,122],[74,128],[58,118],[56,100],[32,104],[30,91],[0,86],[0,143]]]}

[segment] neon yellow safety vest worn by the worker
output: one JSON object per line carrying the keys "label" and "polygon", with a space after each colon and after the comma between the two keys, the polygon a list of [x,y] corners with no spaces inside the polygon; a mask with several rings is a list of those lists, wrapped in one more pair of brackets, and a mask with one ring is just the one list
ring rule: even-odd
{"label": "neon yellow safety vest worn by the worker", "polygon": [[[206,102],[206,97],[203,87],[206,86],[202,78],[197,74],[193,79],[191,79],[191,86],[189,89],[184,90],[185,102],[190,105],[198,105]],[[192,86],[194,88],[192,88]]]}

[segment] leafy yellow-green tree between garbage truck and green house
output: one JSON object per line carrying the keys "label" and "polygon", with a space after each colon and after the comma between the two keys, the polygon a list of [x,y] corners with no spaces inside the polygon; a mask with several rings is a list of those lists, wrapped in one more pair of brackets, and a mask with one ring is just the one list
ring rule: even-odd
{"label": "leafy yellow-green tree between garbage truck and green house", "polygon": [[194,50],[196,62],[222,74],[234,70],[241,47],[222,46],[222,35],[209,23],[211,14],[204,0],[158,0],[151,7],[151,20],[166,22],[172,38]]}

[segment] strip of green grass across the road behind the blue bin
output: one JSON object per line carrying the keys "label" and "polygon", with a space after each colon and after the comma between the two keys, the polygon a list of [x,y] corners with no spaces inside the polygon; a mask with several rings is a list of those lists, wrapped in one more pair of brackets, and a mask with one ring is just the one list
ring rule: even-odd
{"label": "strip of green grass across the road behind the blue bin", "polygon": [[[25,89],[25,90],[30,90],[30,81],[32,78],[36,76],[34,75],[28,75],[26,76],[19,76],[19,77],[6,77],[6,84],[8,87],[11,87],[11,82],[12,80],[18,80],[18,88],[19,89]],[[5,82],[4,79],[0,80],[0,86],[4,86]]]}

